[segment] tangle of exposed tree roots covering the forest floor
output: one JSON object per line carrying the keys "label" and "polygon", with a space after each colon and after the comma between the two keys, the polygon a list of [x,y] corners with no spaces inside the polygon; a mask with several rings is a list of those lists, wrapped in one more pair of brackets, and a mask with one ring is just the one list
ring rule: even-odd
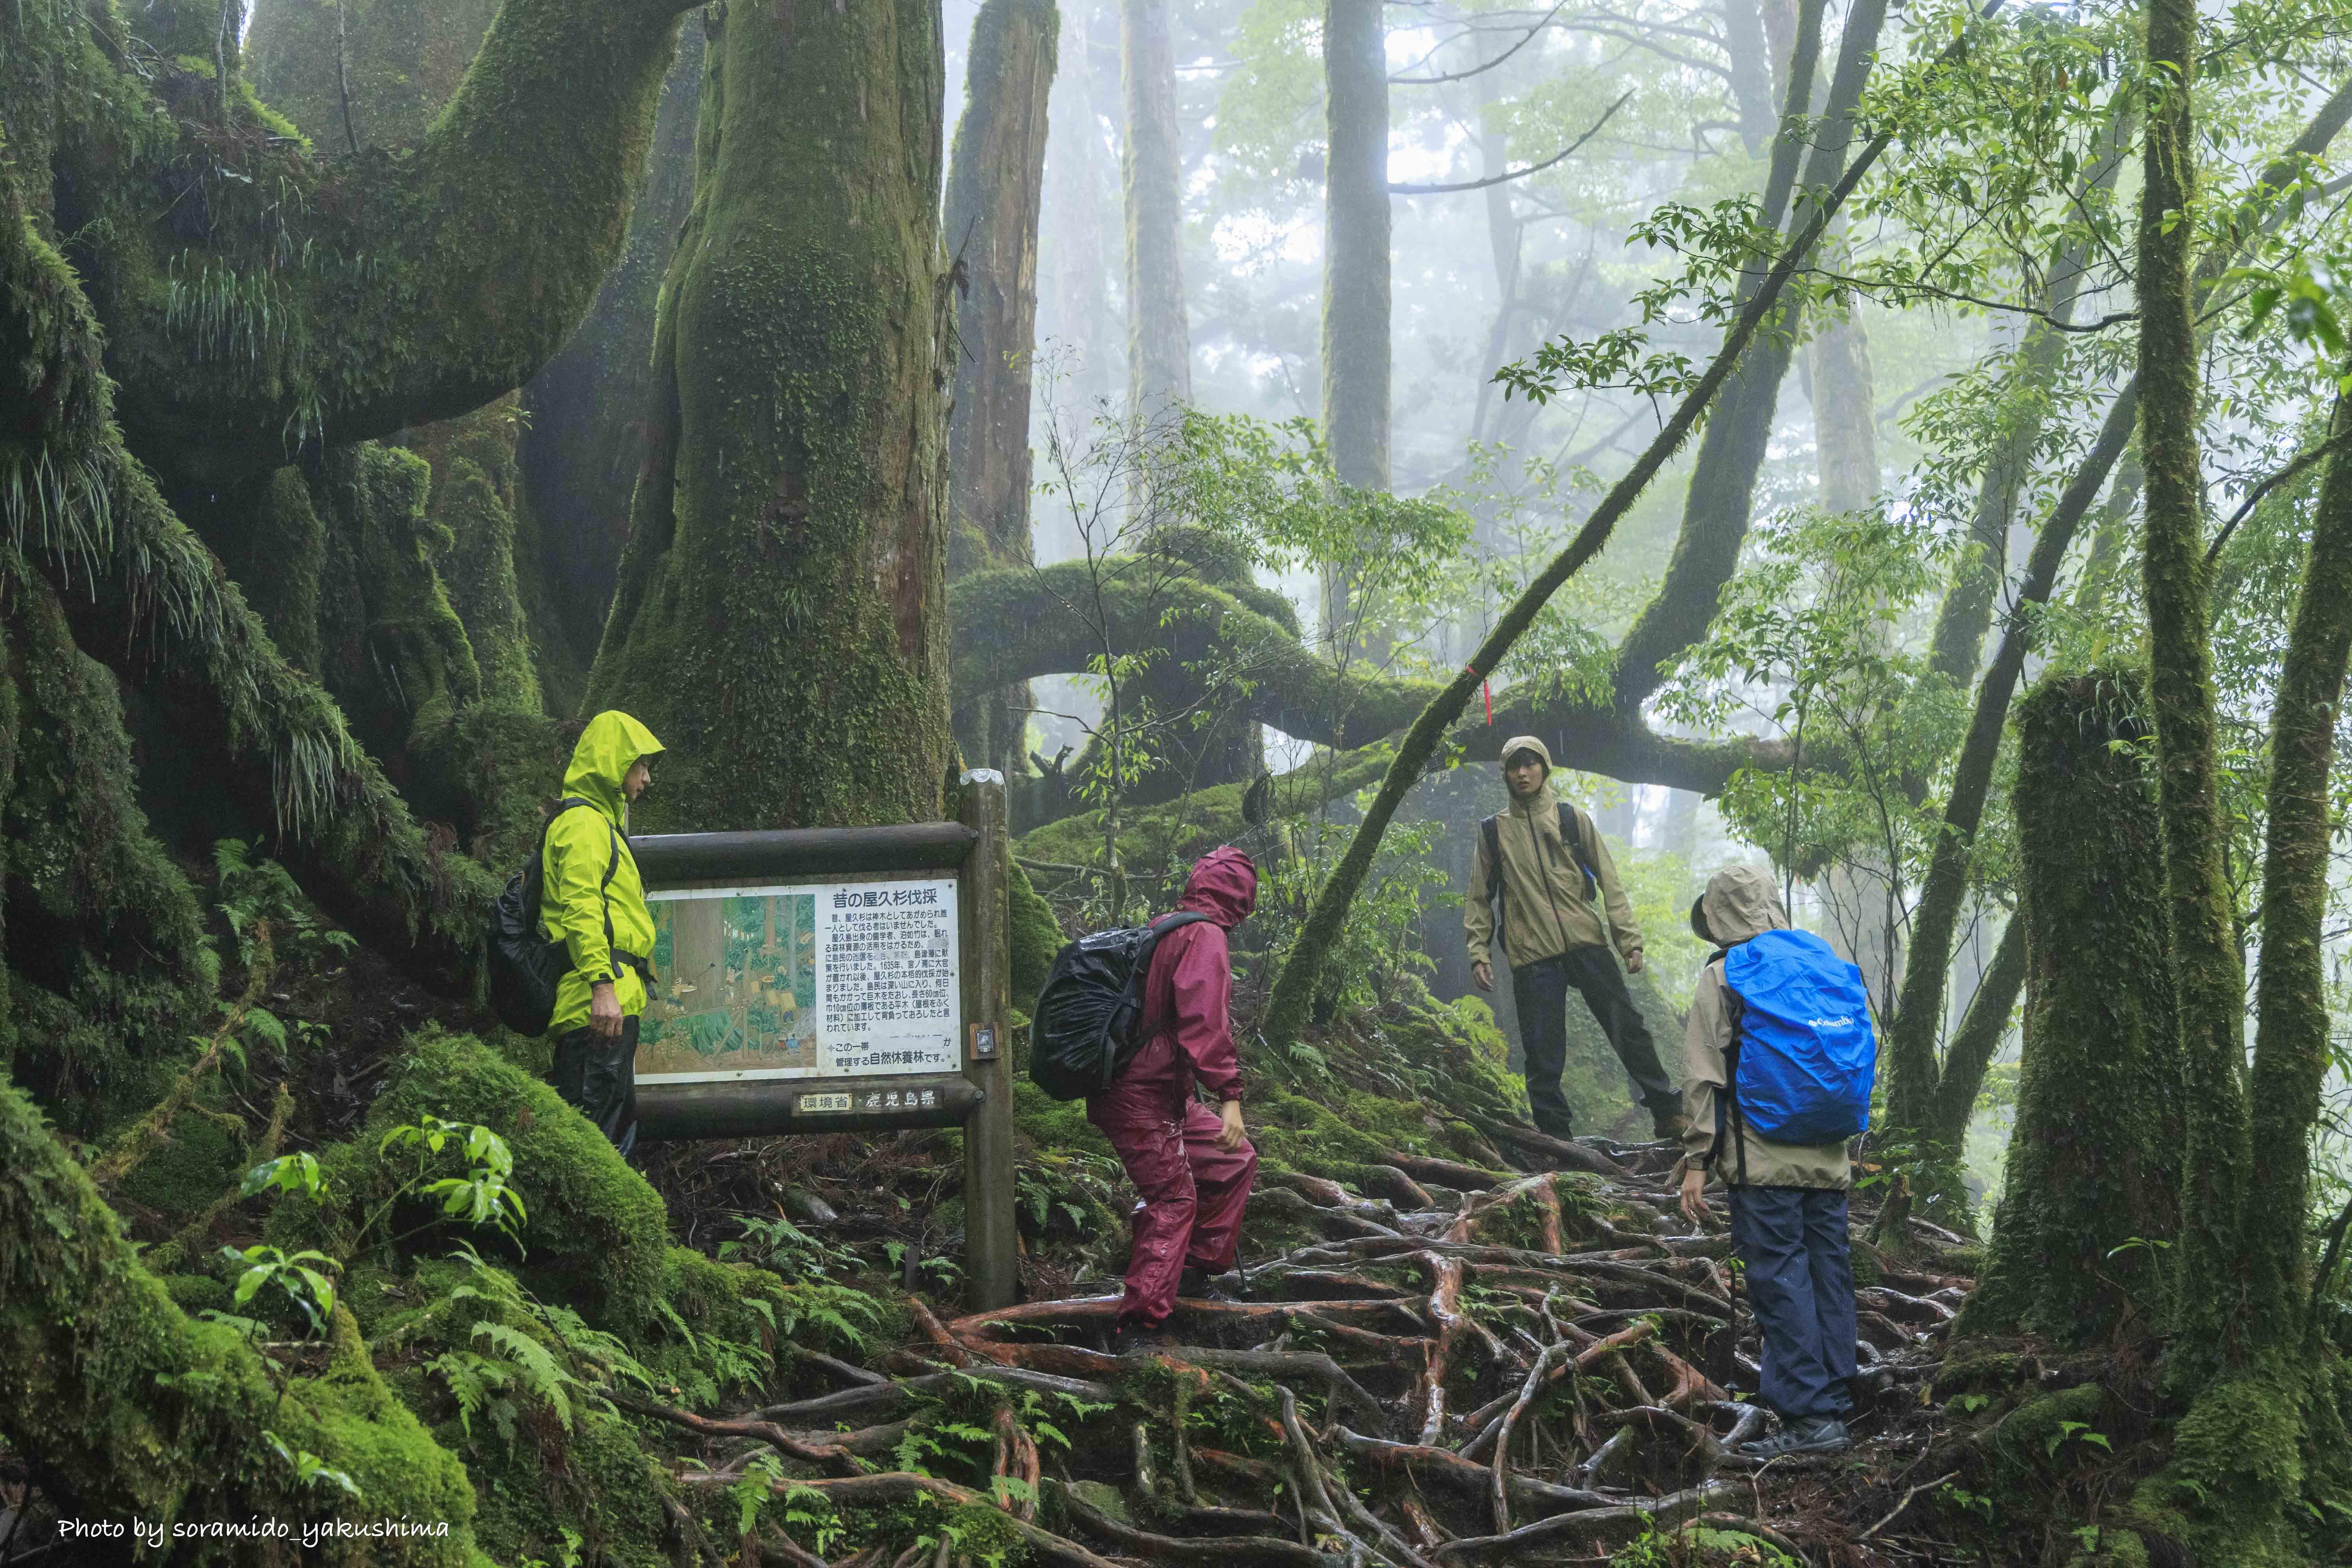
{"label": "tangle of exposed tree roots covering the forest floor", "polygon": [[[1534,1152],[1573,1173],[1414,1171],[1399,1159],[1383,1161],[1376,1199],[1284,1175],[1279,1192],[1298,1211],[1381,1234],[1240,1269],[1223,1281],[1235,1300],[1178,1300],[1169,1349],[1110,1354],[1117,1295],[950,1319],[915,1300],[910,1345],[891,1352],[903,1378],[861,1382],[844,1363],[818,1366],[851,1385],[743,1418],[642,1399],[630,1408],[790,1453],[807,1479],[779,1488],[804,1486],[802,1502],[990,1507],[1058,1566],[1468,1568],[1700,1526],[1820,1561],[1839,1526],[1818,1507],[1802,1526],[1776,1526],[1764,1490],[1813,1486],[1820,1467],[1743,1458],[1738,1443],[1764,1432],[1766,1413],[1717,1382],[1731,1373],[1703,1371],[1740,1368],[1752,1389],[1755,1328],[1717,1262],[1719,1239],[1646,1234],[1670,1204],[1663,1173],[1639,1168],[1646,1152]],[[1616,1175],[1595,1180],[1599,1164]],[[1468,1197],[1430,1201],[1423,1173]],[[1933,1272],[1870,1286],[1865,1316],[1886,1340],[1875,1366],[1929,1375],[1926,1338],[1966,1288]],[[1037,1420],[1070,1436],[1070,1401],[1096,1410],[1077,1418],[1089,1436],[1040,1443]],[[985,1434],[974,1474],[988,1490],[906,1472],[809,1474],[877,1455],[924,1420],[948,1420],[936,1415],[948,1406]],[[684,1479],[724,1486],[743,1462]],[[764,1549],[811,1568],[807,1542]]]}

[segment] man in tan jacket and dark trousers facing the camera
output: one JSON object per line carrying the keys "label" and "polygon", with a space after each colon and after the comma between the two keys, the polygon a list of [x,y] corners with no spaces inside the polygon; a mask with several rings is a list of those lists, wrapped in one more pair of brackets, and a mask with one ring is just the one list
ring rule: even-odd
{"label": "man in tan jacket and dark trousers facing the camera", "polygon": [[[1682,1095],[1658,1065],[1658,1046],[1625,990],[1625,976],[1642,973],[1642,926],[1632,917],[1609,844],[1590,816],[1552,792],[1552,752],[1536,736],[1503,743],[1503,783],[1510,788],[1510,809],[1479,823],[1477,851],[1470,856],[1463,936],[1470,943],[1470,978],[1482,992],[1494,990],[1494,938],[1501,922],[1510,992],[1519,1004],[1529,1114],[1552,1138],[1571,1133],[1559,1070],[1569,1060],[1573,987],[1625,1065],[1635,1100],[1649,1110],[1656,1135],[1672,1138],[1682,1128]],[[1623,971],[1618,954],[1625,959]]]}

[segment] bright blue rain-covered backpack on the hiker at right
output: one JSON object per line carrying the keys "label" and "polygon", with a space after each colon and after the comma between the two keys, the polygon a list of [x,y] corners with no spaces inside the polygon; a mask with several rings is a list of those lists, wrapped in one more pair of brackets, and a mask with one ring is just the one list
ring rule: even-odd
{"label": "bright blue rain-covered backpack on the hiker at right", "polygon": [[1879,1041],[1863,971],[1811,931],[1764,931],[1724,954],[1740,999],[1733,1093],[1769,1143],[1839,1143],[1870,1126]]}

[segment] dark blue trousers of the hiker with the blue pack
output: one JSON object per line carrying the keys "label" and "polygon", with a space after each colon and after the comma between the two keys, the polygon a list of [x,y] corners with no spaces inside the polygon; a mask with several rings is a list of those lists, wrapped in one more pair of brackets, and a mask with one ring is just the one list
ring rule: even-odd
{"label": "dark blue trousers of the hiker with the blue pack", "polygon": [[1733,1187],[1731,1246],[1764,1333],[1764,1403],[1783,1420],[1851,1408],[1853,1253],[1846,1194],[1816,1187]]}

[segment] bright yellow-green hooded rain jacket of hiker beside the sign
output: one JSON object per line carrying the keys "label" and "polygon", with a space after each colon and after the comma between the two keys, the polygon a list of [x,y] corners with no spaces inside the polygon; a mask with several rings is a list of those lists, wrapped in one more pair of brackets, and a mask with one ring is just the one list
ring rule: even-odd
{"label": "bright yellow-green hooded rain jacket of hiker beside the sign", "polygon": [[588,804],[560,811],[548,823],[541,849],[546,891],[539,898],[539,924],[572,957],[572,973],[555,990],[555,1018],[548,1023],[553,1037],[588,1025],[590,985],[597,980],[612,980],[621,1013],[644,1011],[644,976],[628,959],[614,957],[635,954],[647,964],[654,952],[654,912],[644,903],[637,858],[628,853],[628,795],[621,780],[640,757],[661,752],[654,731],[616,710],[588,719],[572,748],[564,799]]}

